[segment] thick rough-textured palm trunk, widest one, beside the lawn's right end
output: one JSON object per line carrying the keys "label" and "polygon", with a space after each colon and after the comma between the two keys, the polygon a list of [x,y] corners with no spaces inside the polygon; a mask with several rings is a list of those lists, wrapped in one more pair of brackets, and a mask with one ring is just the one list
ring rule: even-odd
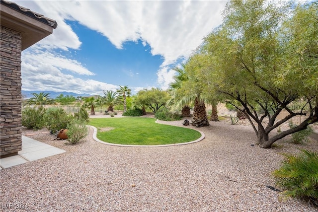
{"label": "thick rough-textured palm trunk, widest one, beside the lawn's right end", "polygon": [[207,117],[207,112],[205,110],[204,102],[200,101],[198,98],[194,101],[194,111],[192,116],[191,125],[197,127],[209,126],[209,120]]}

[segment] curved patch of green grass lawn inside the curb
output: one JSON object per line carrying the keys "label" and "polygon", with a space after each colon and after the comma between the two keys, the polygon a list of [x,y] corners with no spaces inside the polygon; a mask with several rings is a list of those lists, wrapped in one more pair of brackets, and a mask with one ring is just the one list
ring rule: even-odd
{"label": "curved patch of green grass lawn inside the curb", "polygon": [[99,140],[109,143],[159,145],[189,142],[201,137],[192,129],[155,122],[153,118],[94,118],[89,119],[88,124],[97,128]]}

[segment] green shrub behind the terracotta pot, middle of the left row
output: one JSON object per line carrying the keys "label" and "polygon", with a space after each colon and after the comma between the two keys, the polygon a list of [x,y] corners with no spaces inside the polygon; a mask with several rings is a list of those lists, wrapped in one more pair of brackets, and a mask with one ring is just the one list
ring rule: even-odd
{"label": "green shrub behind the terracotta pot, middle of the left row", "polygon": [[66,129],[73,120],[71,114],[67,114],[63,108],[48,108],[46,111],[46,125],[51,133]]}

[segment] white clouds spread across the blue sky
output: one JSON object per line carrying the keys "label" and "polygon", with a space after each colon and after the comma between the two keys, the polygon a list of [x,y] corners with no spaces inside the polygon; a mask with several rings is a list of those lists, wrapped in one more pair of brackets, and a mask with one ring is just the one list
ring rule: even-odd
{"label": "white clouds spread across the blue sky", "polygon": [[[69,90],[81,93],[100,92],[100,86],[116,85],[91,81],[93,70],[79,61],[55,55],[50,49],[79,49],[81,41],[65,20],[75,20],[109,39],[117,48],[125,41],[142,40],[151,46],[152,55],[161,55],[164,62],[157,72],[158,84],[167,88],[174,71],[168,68],[178,59],[187,58],[221,21],[227,1],[15,1],[58,22],[53,34],[40,41],[22,56],[22,83],[26,90]],[[34,50],[36,51],[34,51]],[[43,69],[47,71],[43,71]],[[43,72],[41,72],[41,70]],[[86,79],[83,79],[83,76]],[[36,78],[36,82],[34,79]],[[70,80],[56,86],[56,80]],[[89,86],[87,83],[90,82]],[[140,85],[143,87],[143,85]]]}

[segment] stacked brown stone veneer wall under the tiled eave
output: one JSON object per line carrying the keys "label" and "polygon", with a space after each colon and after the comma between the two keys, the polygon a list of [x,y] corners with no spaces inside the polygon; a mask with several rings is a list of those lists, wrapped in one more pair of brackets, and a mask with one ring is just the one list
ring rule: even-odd
{"label": "stacked brown stone veneer wall under the tiled eave", "polygon": [[1,158],[22,150],[21,33],[1,26]]}

